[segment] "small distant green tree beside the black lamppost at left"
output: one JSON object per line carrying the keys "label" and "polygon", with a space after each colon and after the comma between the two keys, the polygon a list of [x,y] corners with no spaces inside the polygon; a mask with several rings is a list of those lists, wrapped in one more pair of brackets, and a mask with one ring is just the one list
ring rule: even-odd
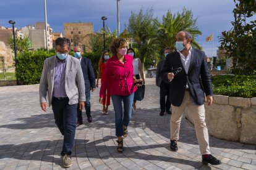
{"label": "small distant green tree beside the black lamppost at left", "polygon": [[[15,42],[16,42],[17,52],[28,51],[28,49],[30,49],[30,47],[31,47],[31,42],[30,42],[30,39],[28,37],[15,38]],[[9,40],[9,46],[11,47],[11,49],[14,49],[14,39],[13,38],[11,38]]]}

